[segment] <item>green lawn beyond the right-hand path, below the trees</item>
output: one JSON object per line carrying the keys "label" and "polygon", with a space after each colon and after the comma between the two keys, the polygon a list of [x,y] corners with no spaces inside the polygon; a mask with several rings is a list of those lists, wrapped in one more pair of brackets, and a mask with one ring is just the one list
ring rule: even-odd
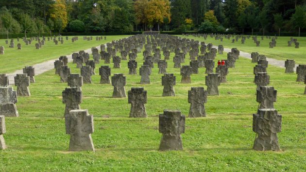
{"label": "green lawn beyond the right-hand path, below the trees", "polygon": [[288,41],[290,37],[278,37],[276,40],[276,47],[273,49],[269,48],[269,42],[271,39],[267,39],[264,36],[264,40],[261,40],[261,36],[257,36],[257,40],[260,41],[260,47],[256,47],[256,43],[252,40],[252,36],[250,39],[246,39],[244,44],[241,44],[241,39],[238,42],[232,43],[231,37],[230,39],[223,38],[223,41],[215,40],[215,38],[211,38],[207,36],[205,40],[204,37],[194,37],[194,36],[182,36],[189,39],[204,41],[205,43],[212,43],[214,46],[223,45],[224,48],[238,48],[240,51],[243,52],[258,52],[259,54],[264,54],[269,58],[274,58],[277,60],[287,60],[287,59],[294,59],[296,64],[306,64],[306,37],[294,37],[297,38],[298,42],[300,42],[300,48],[294,48],[294,42],[291,44],[291,47],[288,47]]}

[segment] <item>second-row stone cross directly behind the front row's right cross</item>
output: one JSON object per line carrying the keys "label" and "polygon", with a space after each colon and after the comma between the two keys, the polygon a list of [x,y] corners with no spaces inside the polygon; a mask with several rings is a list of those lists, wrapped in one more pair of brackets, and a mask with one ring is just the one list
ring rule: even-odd
{"label": "second-row stone cross directly behind the front row's right cross", "polygon": [[276,95],[277,90],[273,86],[260,86],[256,93],[256,101],[260,103],[258,109],[273,109]]}

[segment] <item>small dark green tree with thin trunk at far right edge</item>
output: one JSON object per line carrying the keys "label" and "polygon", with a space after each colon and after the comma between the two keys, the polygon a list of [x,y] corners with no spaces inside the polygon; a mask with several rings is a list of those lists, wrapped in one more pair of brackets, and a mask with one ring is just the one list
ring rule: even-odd
{"label": "small dark green tree with thin trunk at far right edge", "polygon": [[291,21],[295,28],[299,28],[299,37],[301,28],[306,27],[306,13],[301,6],[295,7],[295,13],[291,17]]}

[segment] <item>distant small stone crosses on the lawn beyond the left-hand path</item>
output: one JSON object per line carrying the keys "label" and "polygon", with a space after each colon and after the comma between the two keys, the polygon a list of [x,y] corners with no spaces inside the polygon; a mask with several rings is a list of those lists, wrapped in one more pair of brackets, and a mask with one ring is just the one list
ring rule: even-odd
{"label": "distant small stone crosses on the lawn beyond the left-hand path", "polygon": [[[19,42],[19,39],[20,38],[17,38],[17,42]],[[50,40],[53,40],[53,43],[55,45],[58,45],[58,42],[60,41],[61,44],[64,44],[64,38],[59,36],[59,37],[56,37],[56,36],[51,36],[51,37],[47,37],[48,41]],[[87,41],[90,41],[92,40],[93,37],[92,36],[83,36],[83,40],[87,40]],[[106,36],[104,36],[104,39],[106,40]],[[23,42],[25,43],[25,45],[31,45],[32,42],[35,40],[35,41],[38,41],[37,43],[35,43],[35,49],[39,50],[43,47],[43,45],[45,45],[46,43],[46,37],[45,36],[42,36],[42,39],[40,39],[40,37],[36,36],[36,37],[30,37],[30,39],[27,39],[25,37],[22,38]],[[68,40],[68,36],[66,36],[66,40]],[[77,41],[78,40],[78,36],[73,36],[71,38],[71,42],[74,42],[74,41]],[[101,41],[103,40],[103,36],[96,36],[96,41]],[[5,40],[5,44],[8,44],[8,40]],[[14,39],[11,39],[11,42],[10,42],[10,46],[9,48],[14,48],[15,47],[15,43],[14,43]],[[21,50],[21,44],[18,43],[17,44],[17,50]],[[4,47],[3,46],[0,46],[0,54],[4,54]]]}

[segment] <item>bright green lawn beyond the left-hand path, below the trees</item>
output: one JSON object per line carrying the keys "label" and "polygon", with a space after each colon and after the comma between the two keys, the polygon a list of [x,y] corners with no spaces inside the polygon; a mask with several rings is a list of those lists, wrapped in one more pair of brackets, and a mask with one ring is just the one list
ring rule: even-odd
{"label": "bright green lawn beyond the left-hand path, below the trees", "polygon": [[[24,66],[31,66],[37,63],[42,63],[47,60],[56,59],[61,55],[71,54],[72,52],[78,52],[80,50],[86,50],[91,47],[96,47],[112,40],[118,40],[128,35],[106,36],[106,40],[96,41],[96,36],[93,36],[91,41],[83,40],[83,36],[78,36],[79,40],[72,43],[72,36],[64,37],[64,44],[58,42],[58,45],[53,43],[53,40],[48,41],[46,37],[45,45],[39,49],[35,49],[35,43],[38,41],[32,41],[31,45],[25,45],[22,39],[17,42],[14,39],[15,48],[9,48],[10,40],[8,44],[5,44],[6,39],[0,39],[0,46],[4,46],[4,55],[0,55],[0,73],[10,73],[15,70],[22,69]],[[42,40],[42,38],[41,38]],[[21,50],[17,50],[17,44],[21,44]]]}

